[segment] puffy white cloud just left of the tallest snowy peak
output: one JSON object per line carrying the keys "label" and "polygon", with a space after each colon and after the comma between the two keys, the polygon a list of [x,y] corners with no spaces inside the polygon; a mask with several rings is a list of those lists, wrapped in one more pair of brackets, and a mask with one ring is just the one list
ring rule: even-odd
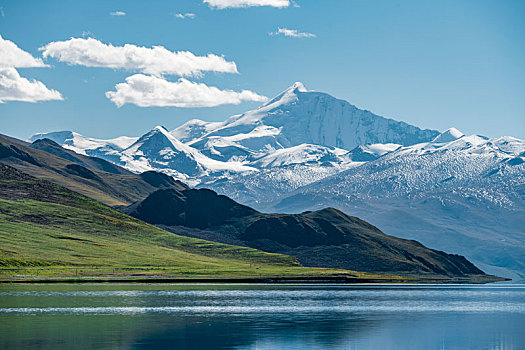
{"label": "puffy white cloud just left of the tallest snowy peak", "polygon": [[267,98],[253,91],[220,90],[203,83],[184,78],[170,82],[151,75],[135,74],[125,83],[115,86],[116,91],[106,92],[117,107],[127,103],[140,107],[215,107],[223,104],[239,104],[243,101],[266,101]]}

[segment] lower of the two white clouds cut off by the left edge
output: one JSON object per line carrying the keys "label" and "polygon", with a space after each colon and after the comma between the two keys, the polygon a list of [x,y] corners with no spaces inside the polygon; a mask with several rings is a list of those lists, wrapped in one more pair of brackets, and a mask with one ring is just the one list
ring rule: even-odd
{"label": "lower of the two white clouds cut off by the left edge", "polygon": [[48,89],[38,80],[21,77],[15,68],[0,68],[0,103],[63,100],[60,92]]}

